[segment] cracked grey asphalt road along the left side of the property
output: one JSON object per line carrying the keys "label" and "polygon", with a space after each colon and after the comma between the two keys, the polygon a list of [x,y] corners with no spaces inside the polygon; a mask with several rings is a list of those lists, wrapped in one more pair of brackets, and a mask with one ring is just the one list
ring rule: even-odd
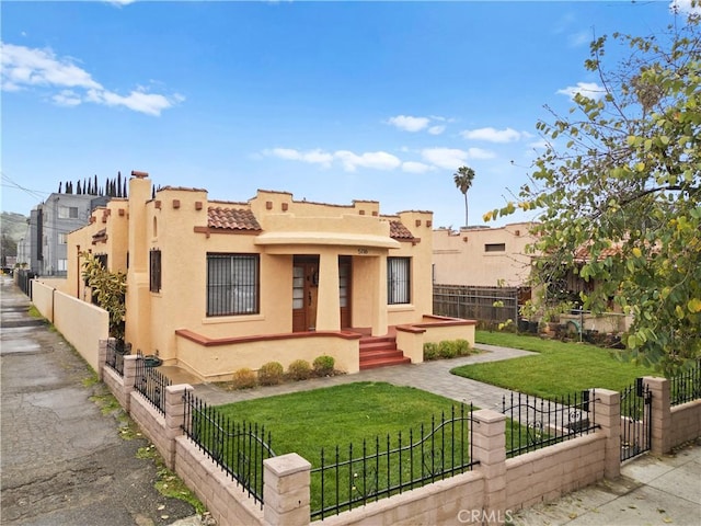
{"label": "cracked grey asphalt road along the left side of the property", "polygon": [[[8,276],[0,283],[0,524],[154,526],[195,515],[154,489],[149,443],[125,439],[120,410],[70,345],[42,320]],[[91,399],[92,398],[92,399]],[[119,414],[122,413],[122,415]]]}

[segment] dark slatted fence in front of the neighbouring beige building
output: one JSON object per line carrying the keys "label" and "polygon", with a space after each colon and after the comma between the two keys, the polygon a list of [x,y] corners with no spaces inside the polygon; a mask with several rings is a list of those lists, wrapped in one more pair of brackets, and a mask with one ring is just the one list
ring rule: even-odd
{"label": "dark slatted fence in front of the neighbouring beige building", "polygon": [[434,315],[483,323],[517,322],[519,290],[514,287],[434,285]]}

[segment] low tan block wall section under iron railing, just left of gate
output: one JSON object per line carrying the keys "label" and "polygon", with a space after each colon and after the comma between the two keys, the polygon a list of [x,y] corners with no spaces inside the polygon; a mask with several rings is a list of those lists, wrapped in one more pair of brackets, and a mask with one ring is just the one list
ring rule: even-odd
{"label": "low tan block wall section under iron railing, just left of gate", "polygon": [[593,433],[506,460],[506,508],[553,501],[601,480],[605,442]]}

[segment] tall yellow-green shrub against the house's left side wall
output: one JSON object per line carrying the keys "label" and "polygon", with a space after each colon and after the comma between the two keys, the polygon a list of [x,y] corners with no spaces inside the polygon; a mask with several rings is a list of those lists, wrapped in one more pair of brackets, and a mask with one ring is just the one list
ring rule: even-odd
{"label": "tall yellow-green shrub against the house's left side wall", "polygon": [[85,285],[92,290],[94,302],[110,313],[110,336],[116,340],[116,351],[129,354],[130,344],[124,341],[127,276],[123,272],[110,272],[89,252],[82,252],[80,255],[84,260],[82,276]]}

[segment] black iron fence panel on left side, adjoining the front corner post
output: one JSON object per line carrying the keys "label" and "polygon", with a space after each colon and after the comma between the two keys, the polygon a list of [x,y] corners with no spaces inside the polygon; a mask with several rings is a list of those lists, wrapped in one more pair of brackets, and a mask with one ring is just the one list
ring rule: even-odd
{"label": "black iron fence panel on left side, adjoining the front corner post", "polygon": [[264,426],[233,422],[208,407],[191,391],[183,395],[183,431],[202,451],[211,458],[250,498],[263,507],[263,461],[275,457],[271,434]]}

